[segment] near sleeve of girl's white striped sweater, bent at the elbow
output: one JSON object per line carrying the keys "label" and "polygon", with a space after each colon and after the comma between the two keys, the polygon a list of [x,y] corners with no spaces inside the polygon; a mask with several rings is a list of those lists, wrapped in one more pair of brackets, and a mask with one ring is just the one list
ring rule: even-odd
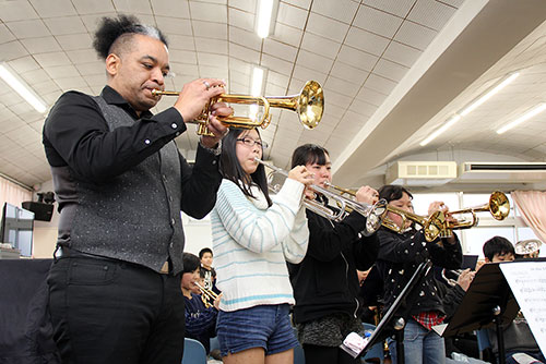
{"label": "near sleeve of girl's white striped sweater, bent at the elbow", "polygon": [[[294,229],[302,192],[304,184],[287,179],[273,205],[262,210],[234,182],[223,180],[217,193],[216,211],[225,230],[238,244],[254,253],[269,252],[287,239]],[[307,223],[297,228],[300,232],[294,238],[300,244],[307,241],[309,231]]]}

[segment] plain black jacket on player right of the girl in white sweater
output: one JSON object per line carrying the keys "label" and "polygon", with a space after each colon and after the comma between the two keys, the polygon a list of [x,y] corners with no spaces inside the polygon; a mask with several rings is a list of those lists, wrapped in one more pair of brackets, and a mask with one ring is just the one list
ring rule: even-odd
{"label": "plain black jacket on player right of the girl in white sweater", "polygon": [[[342,313],[357,316],[358,299],[356,269],[366,270],[376,260],[376,234],[361,236],[366,218],[349,214],[341,222],[332,222],[307,210],[309,246],[299,264],[288,264],[296,305],[297,324]],[[361,238],[359,238],[361,236]]]}

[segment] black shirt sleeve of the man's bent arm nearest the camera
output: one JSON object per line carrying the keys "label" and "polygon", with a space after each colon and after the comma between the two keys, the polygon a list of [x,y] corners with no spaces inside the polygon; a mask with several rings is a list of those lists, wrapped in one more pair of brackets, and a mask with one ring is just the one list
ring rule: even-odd
{"label": "black shirt sleeve of the man's bent arm nearest the camera", "polygon": [[110,132],[93,98],[69,92],[45,122],[44,145],[51,166],[68,165],[82,179],[100,183],[139,165],[185,131],[182,117],[169,108]]}

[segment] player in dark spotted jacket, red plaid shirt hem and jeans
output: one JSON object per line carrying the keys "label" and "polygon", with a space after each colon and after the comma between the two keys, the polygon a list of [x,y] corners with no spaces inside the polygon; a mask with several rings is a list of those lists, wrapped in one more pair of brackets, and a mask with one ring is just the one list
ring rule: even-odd
{"label": "player in dark spotted jacket, red plaid shirt hem and jeans", "polygon": [[[379,197],[389,205],[408,211],[413,210],[413,195],[401,185],[384,185],[379,190]],[[448,208],[442,202],[434,202],[428,208],[429,216],[438,210],[447,214],[452,221]],[[378,231],[380,242],[379,256],[376,263],[383,279],[383,311],[387,312],[394,300],[410,281],[418,265],[431,260],[432,264],[447,269],[461,267],[463,254],[456,235],[427,242],[422,230],[416,230],[411,220],[405,221],[397,214],[389,211],[387,218],[397,231],[385,228]],[[438,294],[434,270],[423,278],[418,286],[406,298],[407,304],[402,312],[406,325],[404,327],[404,359],[407,364],[441,364],[446,362],[443,338],[431,327],[441,324],[446,318],[443,303]],[[389,350],[393,362],[396,362],[396,342],[391,340]]]}

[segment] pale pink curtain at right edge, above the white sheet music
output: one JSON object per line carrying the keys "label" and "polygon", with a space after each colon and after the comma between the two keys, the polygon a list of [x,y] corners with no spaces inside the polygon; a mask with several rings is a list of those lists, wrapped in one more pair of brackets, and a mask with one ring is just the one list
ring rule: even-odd
{"label": "pale pink curtain at right edge, above the white sheet music", "polygon": [[514,191],[511,195],[523,221],[546,243],[546,192]]}

